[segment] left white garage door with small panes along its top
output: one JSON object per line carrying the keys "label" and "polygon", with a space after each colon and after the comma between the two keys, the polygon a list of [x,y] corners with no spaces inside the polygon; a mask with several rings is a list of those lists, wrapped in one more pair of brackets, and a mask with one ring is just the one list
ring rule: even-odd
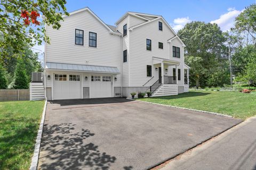
{"label": "left white garage door with small panes along its top", "polygon": [[79,74],[54,74],[54,100],[81,98],[80,78]]}

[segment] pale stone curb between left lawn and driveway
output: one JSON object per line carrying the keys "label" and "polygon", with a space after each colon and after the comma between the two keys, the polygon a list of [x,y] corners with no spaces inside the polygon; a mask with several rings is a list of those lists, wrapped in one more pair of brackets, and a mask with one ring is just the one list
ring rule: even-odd
{"label": "pale stone curb between left lawn and driveway", "polygon": [[32,162],[31,162],[30,168],[29,168],[30,170],[36,170],[37,165],[38,165],[39,152],[40,152],[40,147],[41,147],[41,139],[42,139],[42,134],[43,134],[43,126],[44,126],[46,105],[47,105],[47,100],[45,100],[45,103],[44,103],[44,110],[43,110],[43,114],[42,114],[41,123],[39,125],[39,129],[38,129],[38,132],[37,132],[34,155],[32,157]]}

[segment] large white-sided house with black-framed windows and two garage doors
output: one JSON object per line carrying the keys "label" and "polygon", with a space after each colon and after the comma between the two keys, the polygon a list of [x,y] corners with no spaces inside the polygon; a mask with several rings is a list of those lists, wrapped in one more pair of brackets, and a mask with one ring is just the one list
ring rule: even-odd
{"label": "large white-sided house with black-framed windows and two garage doors", "polygon": [[59,30],[45,28],[51,40],[44,57],[47,99],[188,91],[185,45],[162,16],[127,12],[115,27],[85,7],[63,20]]}

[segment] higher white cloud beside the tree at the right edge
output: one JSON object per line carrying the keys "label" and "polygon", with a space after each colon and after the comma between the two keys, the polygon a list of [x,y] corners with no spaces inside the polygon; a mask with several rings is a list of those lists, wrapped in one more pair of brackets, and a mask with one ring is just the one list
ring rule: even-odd
{"label": "higher white cloud beside the tree at the right edge", "polygon": [[234,7],[228,8],[228,12],[220,15],[220,18],[214,21],[211,21],[211,23],[217,23],[222,31],[230,30],[230,28],[234,27],[234,22],[236,16],[238,16],[241,12],[238,10],[235,10]]}

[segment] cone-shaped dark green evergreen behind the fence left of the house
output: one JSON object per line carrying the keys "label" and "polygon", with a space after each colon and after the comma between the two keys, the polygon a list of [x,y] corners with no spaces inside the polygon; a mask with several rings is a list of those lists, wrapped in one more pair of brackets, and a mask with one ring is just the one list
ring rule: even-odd
{"label": "cone-shaped dark green evergreen behind the fence left of the house", "polygon": [[28,89],[28,77],[26,74],[25,64],[19,60],[14,73],[13,88],[14,89]]}

